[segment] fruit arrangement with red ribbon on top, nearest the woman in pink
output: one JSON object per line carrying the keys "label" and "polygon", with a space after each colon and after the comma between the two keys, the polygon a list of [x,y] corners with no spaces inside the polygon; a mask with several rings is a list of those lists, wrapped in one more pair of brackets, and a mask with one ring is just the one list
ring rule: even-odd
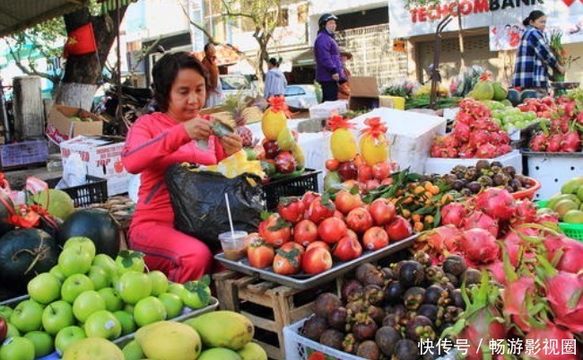
{"label": "fruit arrangement with red ribbon on top, nearest the woman in pink", "polygon": [[262,167],[268,177],[274,177],[275,173],[292,176],[300,174],[306,163],[303,151],[298,144],[297,133],[287,127],[287,106],[281,96],[269,98],[270,107],[265,110],[261,119],[261,129],[265,139],[263,149],[265,154],[260,154]]}

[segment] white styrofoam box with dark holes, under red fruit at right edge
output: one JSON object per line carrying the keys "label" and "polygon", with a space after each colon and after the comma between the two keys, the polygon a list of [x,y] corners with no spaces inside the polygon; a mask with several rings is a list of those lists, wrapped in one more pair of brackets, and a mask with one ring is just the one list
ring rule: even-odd
{"label": "white styrofoam box with dark holes, under red fruit at right edge", "polygon": [[561,186],[583,175],[583,153],[539,153],[523,151],[526,173],[541,183],[536,200],[546,200],[561,192]]}

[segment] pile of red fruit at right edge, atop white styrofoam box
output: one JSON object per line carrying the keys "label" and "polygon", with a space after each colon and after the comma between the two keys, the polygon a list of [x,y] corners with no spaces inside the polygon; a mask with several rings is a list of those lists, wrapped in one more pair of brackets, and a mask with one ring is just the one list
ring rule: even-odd
{"label": "pile of red fruit at right edge, atop white styrofoam box", "polygon": [[529,145],[531,150],[553,153],[573,153],[581,150],[583,111],[580,108],[583,101],[577,96],[577,92],[573,92],[557,100],[556,108],[550,117],[550,126],[541,123],[543,131],[531,139]]}

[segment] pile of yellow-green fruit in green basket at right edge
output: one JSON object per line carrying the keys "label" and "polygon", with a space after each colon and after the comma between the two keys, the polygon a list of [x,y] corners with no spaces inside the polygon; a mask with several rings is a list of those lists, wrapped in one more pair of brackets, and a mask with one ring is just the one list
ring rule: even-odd
{"label": "pile of yellow-green fruit in green basket at right edge", "polygon": [[563,223],[583,224],[583,177],[565,182],[561,193],[549,198],[545,208],[555,211]]}

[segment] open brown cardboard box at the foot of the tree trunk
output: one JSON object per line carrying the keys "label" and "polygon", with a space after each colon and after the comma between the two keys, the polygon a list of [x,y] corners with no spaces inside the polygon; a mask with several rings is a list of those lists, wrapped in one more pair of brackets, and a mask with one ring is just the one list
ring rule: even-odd
{"label": "open brown cardboard box at the foot of the tree trunk", "polygon": [[[91,118],[93,121],[71,121],[71,117]],[[57,145],[75,136],[100,136],[103,134],[103,120],[87,110],[55,105],[48,113],[45,134]]]}

